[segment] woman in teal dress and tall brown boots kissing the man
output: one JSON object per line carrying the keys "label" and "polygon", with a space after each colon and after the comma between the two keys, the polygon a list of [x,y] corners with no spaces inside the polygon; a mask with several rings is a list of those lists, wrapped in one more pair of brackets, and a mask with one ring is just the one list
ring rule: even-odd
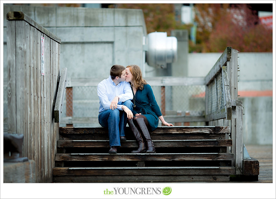
{"label": "woman in teal dress and tall brown boots kissing the man", "polygon": [[[163,125],[173,126],[173,124],[169,124],[164,120],[151,86],[142,78],[142,72],[139,66],[129,65],[126,67],[125,81],[130,82],[133,91],[132,112],[133,116],[135,116],[133,119],[128,119],[128,125],[138,141],[138,149],[132,151],[132,153],[155,153],[148,128],[150,131],[155,130],[158,126],[158,118]],[[140,132],[144,136],[145,142]]]}

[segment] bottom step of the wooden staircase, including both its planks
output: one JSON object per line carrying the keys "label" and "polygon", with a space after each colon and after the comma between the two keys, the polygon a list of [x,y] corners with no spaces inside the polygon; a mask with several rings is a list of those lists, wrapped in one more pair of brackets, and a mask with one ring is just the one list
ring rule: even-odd
{"label": "bottom step of the wooden staircase, including both its planks", "polygon": [[54,182],[229,181],[235,167],[56,167]]}

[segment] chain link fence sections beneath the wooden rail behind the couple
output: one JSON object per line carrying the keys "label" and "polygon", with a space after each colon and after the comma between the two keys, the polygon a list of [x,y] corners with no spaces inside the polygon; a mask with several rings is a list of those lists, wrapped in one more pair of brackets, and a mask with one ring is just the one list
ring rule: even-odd
{"label": "chain link fence sections beneath the wooden rail behind the couple", "polygon": [[[161,110],[161,86],[151,86],[151,88]],[[98,123],[99,98],[97,86],[69,87],[66,89],[64,100],[66,106],[63,107],[63,110],[66,110],[66,116],[64,114],[61,117],[72,116],[73,121],[63,120],[66,122],[61,123],[60,126],[66,126],[68,122],[75,127],[100,126]],[[162,115],[185,116],[188,113],[191,116],[202,116],[205,111],[205,85],[166,86],[164,103],[165,113],[162,113]],[[192,124],[190,125],[193,126]],[[197,122],[194,125],[204,124]]]}

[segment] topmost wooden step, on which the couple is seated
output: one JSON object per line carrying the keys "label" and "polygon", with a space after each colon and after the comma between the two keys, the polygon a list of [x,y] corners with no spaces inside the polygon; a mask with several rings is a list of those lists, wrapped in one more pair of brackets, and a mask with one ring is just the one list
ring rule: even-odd
{"label": "topmost wooden step, on which the couple is seated", "polygon": [[[150,132],[152,140],[183,139],[225,139],[231,133],[230,126],[159,126]],[[108,129],[104,127],[60,127],[61,140],[107,140]],[[127,126],[125,136],[134,140],[131,129]]]}

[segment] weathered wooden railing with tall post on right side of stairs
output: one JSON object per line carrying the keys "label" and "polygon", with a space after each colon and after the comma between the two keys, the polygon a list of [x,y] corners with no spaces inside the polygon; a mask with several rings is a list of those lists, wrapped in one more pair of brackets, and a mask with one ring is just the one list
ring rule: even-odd
{"label": "weathered wooden railing with tall post on right side of stairs", "polygon": [[[242,175],[242,102],[238,100],[238,51],[227,47],[205,77],[205,121],[209,126],[231,126],[236,175]],[[230,123],[230,124],[229,124]]]}

